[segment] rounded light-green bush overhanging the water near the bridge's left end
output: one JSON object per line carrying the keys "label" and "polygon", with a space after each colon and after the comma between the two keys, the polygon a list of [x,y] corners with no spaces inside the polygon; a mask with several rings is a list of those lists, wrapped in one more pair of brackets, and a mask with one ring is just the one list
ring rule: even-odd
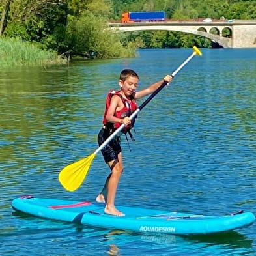
{"label": "rounded light-green bush overhanging the water near the bridge's left end", "polygon": [[106,20],[92,12],[70,17],[66,29],[66,50],[85,57],[131,57],[132,48],[124,48],[118,33],[110,31]]}

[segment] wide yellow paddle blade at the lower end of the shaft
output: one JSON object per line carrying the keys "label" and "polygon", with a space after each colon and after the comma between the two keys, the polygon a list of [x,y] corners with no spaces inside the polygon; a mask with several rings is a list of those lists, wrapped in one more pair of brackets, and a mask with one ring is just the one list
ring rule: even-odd
{"label": "wide yellow paddle blade at the lower end of the shaft", "polygon": [[59,173],[59,182],[61,182],[61,185],[68,191],[77,190],[83,183],[95,156],[96,154],[92,153],[87,158],[83,158],[78,162],[64,167]]}

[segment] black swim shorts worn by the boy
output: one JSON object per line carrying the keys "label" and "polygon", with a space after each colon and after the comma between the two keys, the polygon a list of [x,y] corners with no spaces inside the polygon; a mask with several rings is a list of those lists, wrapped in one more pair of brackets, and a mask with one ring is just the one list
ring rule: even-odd
{"label": "black swim shorts worn by the boy", "polygon": [[[111,135],[109,130],[102,128],[98,134],[98,145],[102,145],[104,141]],[[103,149],[102,149],[102,156],[106,163],[118,159],[118,154],[122,151],[120,145],[120,137],[115,136]]]}

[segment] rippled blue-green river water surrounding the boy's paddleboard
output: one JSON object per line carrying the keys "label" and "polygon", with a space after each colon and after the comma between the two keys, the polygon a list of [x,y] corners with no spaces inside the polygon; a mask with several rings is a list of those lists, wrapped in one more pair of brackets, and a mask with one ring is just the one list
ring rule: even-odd
{"label": "rippled blue-green river water surrounding the boy's paddleboard", "polygon": [[[208,215],[256,211],[256,49],[202,52],[139,113],[132,151],[122,138],[117,205]],[[12,213],[11,201],[21,195],[94,200],[109,173],[100,153],[75,192],[57,177],[97,149],[105,97],[118,89],[119,72],[134,69],[144,88],[192,50],[138,53],[0,70],[0,255],[256,255],[255,224],[216,235],[160,236]]]}

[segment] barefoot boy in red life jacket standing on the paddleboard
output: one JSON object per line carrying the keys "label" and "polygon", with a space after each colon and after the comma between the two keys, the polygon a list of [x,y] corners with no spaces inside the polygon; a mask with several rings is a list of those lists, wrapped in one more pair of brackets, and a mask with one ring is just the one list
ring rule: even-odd
{"label": "barefoot boy in red life jacket standing on the paddleboard", "polygon": [[[167,75],[161,81],[154,83],[141,91],[135,91],[139,82],[139,76],[134,70],[122,70],[119,78],[120,91],[110,91],[107,94],[106,109],[103,119],[103,128],[98,134],[98,144],[101,145],[106,141],[121,124],[125,124],[123,132],[128,132],[134,124],[129,116],[137,109],[136,99],[142,98],[156,91],[164,81],[171,82],[172,77]],[[109,165],[111,173],[106,179],[102,192],[96,197],[98,203],[106,203],[105,213],[115,216],[124,216],[115,208],[115,193],[119,184],[119,178],[122,175],[122,149],[120,145],[120,137],[115,138],[102,149],[102,155],[105,162]]]}

